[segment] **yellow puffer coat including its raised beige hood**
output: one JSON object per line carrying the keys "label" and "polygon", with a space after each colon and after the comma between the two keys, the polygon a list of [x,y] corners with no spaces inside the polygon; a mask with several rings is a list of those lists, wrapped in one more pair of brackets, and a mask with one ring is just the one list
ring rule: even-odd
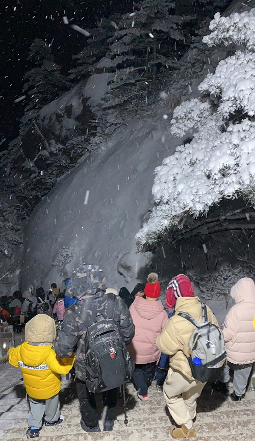
{"label": "yellow puffer coat including its raised beige hood", "polygon": [[73,356],[57,357],[51,344],[55,338],[54,320],[41,314],[25,325],[25,342],[9,349],[9,363],[20,367],[27,394],[38,400],[59,393],[60,375],[68,373],[74,362]]}

